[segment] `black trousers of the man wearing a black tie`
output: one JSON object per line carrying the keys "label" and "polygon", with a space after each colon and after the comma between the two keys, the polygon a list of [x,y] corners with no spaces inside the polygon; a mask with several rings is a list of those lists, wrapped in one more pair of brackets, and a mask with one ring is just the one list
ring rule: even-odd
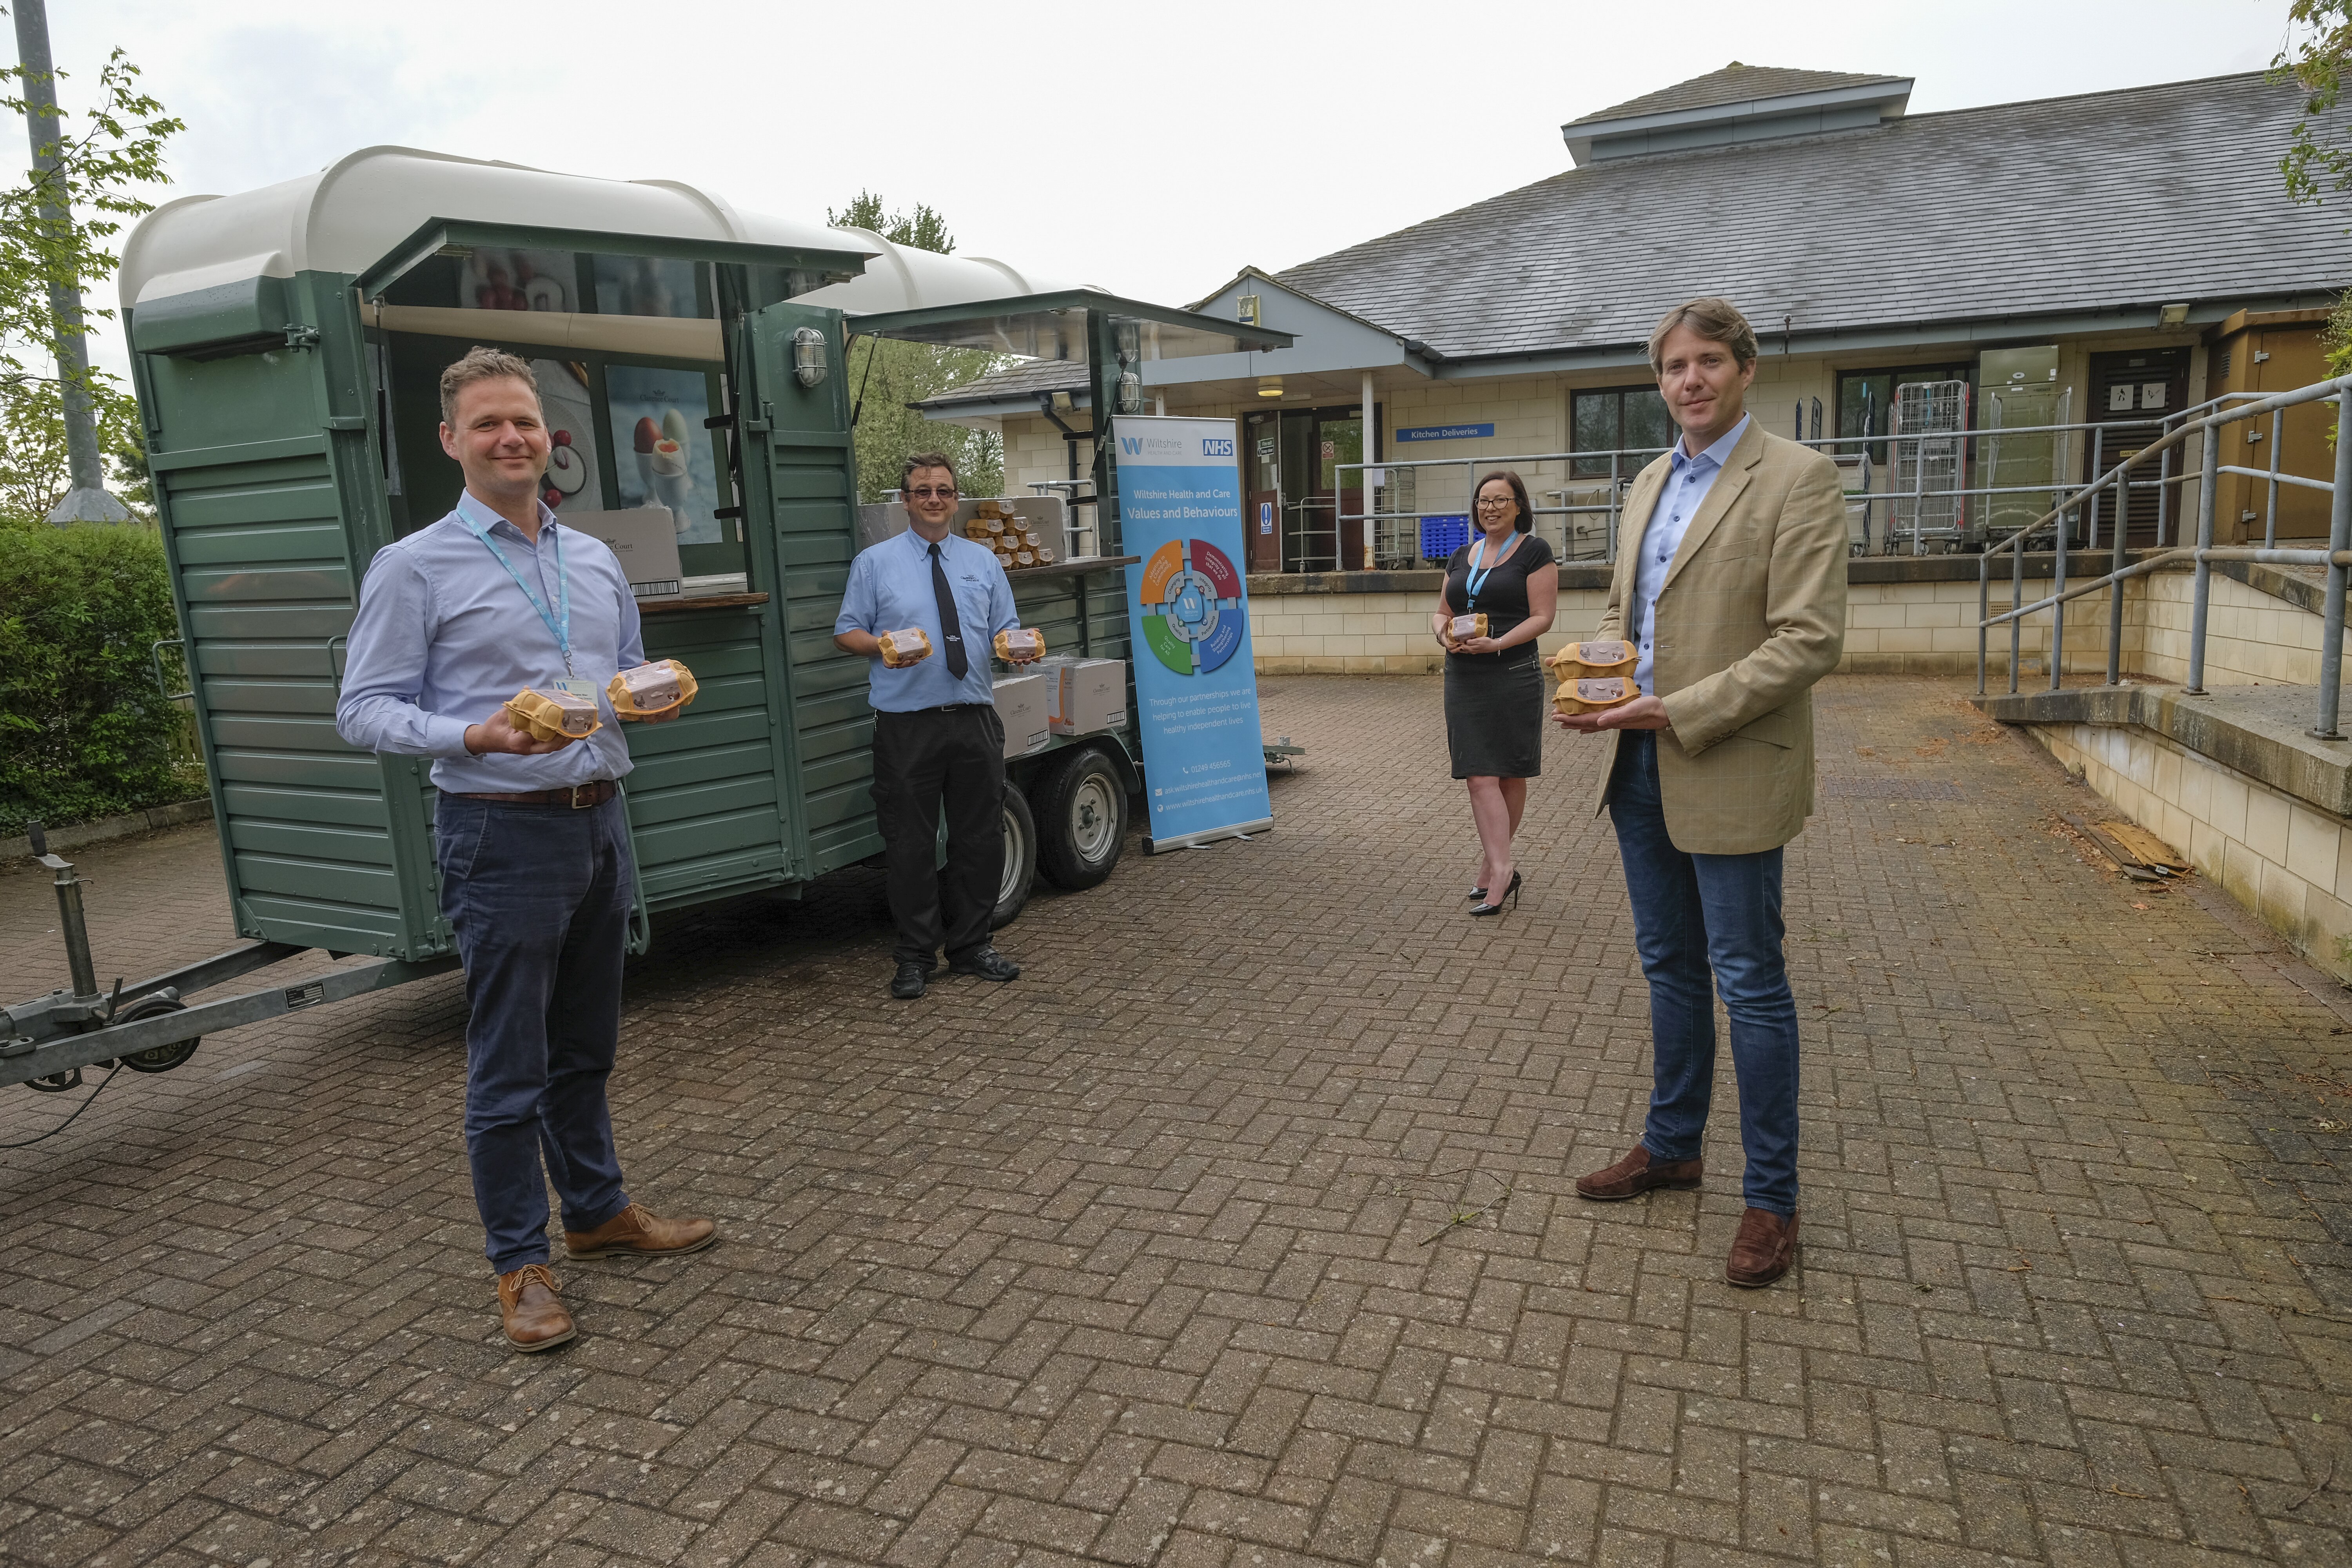
{"label": "black trousers of the man wearing a black tie", "polygon": [[946,945],[953,964],[985,947],[1004,882],[1004,719],[981,705],[875,712],[873,790],[898,924],[894,957],[931,964]]}

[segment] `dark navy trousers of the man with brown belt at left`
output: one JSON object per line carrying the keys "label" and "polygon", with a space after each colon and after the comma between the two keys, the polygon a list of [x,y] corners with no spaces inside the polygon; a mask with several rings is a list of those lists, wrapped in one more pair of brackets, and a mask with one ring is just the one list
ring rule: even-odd
{"label": "dark navy trousers of the man with brown belt at left", "polygon": [[510,1274],[548,1260],[548,1178],[564,1229],[595,1229],[628,1208],[604,1079],[621,1039],[637,867],[619,797],[572,811],[445,792],[433,839],[473,1009],[473,1201],[489,1265]]}

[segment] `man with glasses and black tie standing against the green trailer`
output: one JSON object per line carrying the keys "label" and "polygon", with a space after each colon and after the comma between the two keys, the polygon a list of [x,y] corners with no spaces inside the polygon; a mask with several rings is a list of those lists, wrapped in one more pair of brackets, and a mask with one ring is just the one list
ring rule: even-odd
{"label": "man with glasses and black tie standing against the green trailer", "polygon": [[[908,531],[858,552],[833,642],[870,663],[875,818],[898,924],[889,994],[913,1001],[936,973],[941,945],[948,973],[1021,976],[1018,964],[988,945],[1004,879],[1004,722],[988,656],[995,635],[1021,621],[995,550],[953,531],[955,465],[946,454],[910,456],[898,496]],[[920,628],[931,654],[894,670],[882,661],[880,635],[906,628]],[[943,867],[934,849],[941,806]]]}

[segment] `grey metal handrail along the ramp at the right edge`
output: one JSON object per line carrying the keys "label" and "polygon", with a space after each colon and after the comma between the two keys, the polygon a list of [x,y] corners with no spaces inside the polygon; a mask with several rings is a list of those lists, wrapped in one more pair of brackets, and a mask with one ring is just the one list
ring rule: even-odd
{"label": "grey metal handrail along the ramp at the right edge", "polygon": [[[2244,400],[2244,402],[2234,402]],[[1987,642],[1994,625],[2009,628],[2009,689],[2018,689],[2018,663],[2020,663],[2020,628],[2025,616],[2051,611],[2051,649],[2049,649],[2049,689],[2058,691],[2065,679],[2065,604],[2070,599],[2082,599],[2098,590],[2107,590],[2107,684],[2119,686],[2124,679],[2124,583],[2150,571],[2159,571],[2176,562],[2194,562],[2194,588],[2190,592],[2190,679],[2185,691],[2192,696],[2204,693],[2204,665],[2206,665],[2206,621],[2213,597],[2213,562],[2265,562],[2279,567],[2326,567],[2328,585],[2319,611],[2319,712],[2312,722],[2312,736],[2321,741],[2343,741],[2338,729],[2340,701],[2343,701],[2343,644],[2345,644],[2345,585],[2347,571],[2352,571],[2352,440],[2336,442],[2336,480],[2303,480],[2298,475],[2281,475],[2279,463],[2279,433],[2284,428],[2286,409],[2336,400],[2336,428],[2352,435],[2352,376],[2336,376],[2331,381],[2314,381],[2310,386],[2293,388],[2288,393],[2272,393],[2267,397],[2251,397],[2246,393],[2225,393],[2223,397],[2197,404],[2199,409],[2211,407],[2213,411],[2201,418],[2187,418],[2190,409],[2183,409],[2176,418],[2178,425],[2161,435],[2157,442],[2131,454],[2100,477],[2091,480],[2072,496],[2053,505],[2049,512],[2025,524],[2009,538],[1999,541],[1983,557],[1978,557],[1976,569],[1976,691],[1985,691],[1985,663]],[[2234,402],[2234,407],[2232,407]],[[2211,440],[2223,428],[2270,416],[2270,440],[2272,440],[2272,465],[2270,470],[2253,470],[2220,461],[2220,442]],[[2171,421],[2166,421],[2171,423]],[[2138,562],[2126,562],[2126,529],[2124,529],[2124,505],[2129,489],[2136,484],[2129,475],[2145,461],[2166,456],[2171,449],[2180,447],[2192,433],[2206,437],[2199,442],[2199,473],[2197,473],[2197,543],[2180,545],[2173,550],[2161,550],[2159,555],[2143,557]],[[2169,458],[2166,458],[2169,461]],[[2256,480],[2270,482],[2272,508],[2270,524],[2265,529],[2265,543],[2256,545],[2216,545],[2213,543],[2213,494],[2220,484],[2220,475],[2237,473]],[[2307,489],[2328,491],[2328,548],[2326,550],[2279,550],[2277,548],[2277,487],[2303,484]],[[2096,505],[2096,496],[2103,489],[2114,491],[2117,505],[2117,529],[2114,529],[2114,559],[2103,576],[2089,578],[2077,585],[2067,585],[2067,529],[2056,529],[2056,559],[2053,559],[2053,590],[2025,604],[2025,541],[2039,534],[2044,527],[2065,517],[2079,505]],[[1992,614],[1992,555],[1997,550],[2009,550],[2011,567],[2011,592],[2009,609],[1999,616]]]}

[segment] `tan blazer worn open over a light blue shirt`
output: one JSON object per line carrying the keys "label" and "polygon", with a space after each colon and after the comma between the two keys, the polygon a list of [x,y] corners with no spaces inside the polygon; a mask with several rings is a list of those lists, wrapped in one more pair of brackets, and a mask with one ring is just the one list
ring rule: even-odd
{"label": "tan blazer worn open over a light blue shirt", "polygon": [[[1609,609],[1595,637],[1625,637],[1642,536],[1670,473],[1644,468],[1625,496]],[[1658,590],[1651,689],[1658,792],[1675,849],[1778,849],[1813,813],[1811,689],[1846,644],[1846,501],[1837,465],[1797,442],[1748,435],[1691,517]],[[1609,804],[1616,736],[1595,809]]]}

